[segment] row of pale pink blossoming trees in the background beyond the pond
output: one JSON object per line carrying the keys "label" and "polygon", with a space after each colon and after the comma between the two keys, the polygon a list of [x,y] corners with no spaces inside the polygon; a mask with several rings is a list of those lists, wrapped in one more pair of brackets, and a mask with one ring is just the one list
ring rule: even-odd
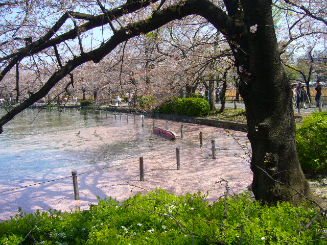
{"label": "row of pale pink blossoming trees in the background beyond the pond", "polygon": [[[285,5],[276,3],[273,9],[274,22],[283,27],[275,25],[277,34],[281,37],[279,48],[283,52],[286,51],[282,55],[282,61],[289,78],[306,82],[310,95],[309,82],[317,76],[317,72],[324,76],[323,64],[317,62],[317,55],[314,55],[317,48],[322,48],[321,45],[325,41],[324,32],[317,30],[320,26],[306,21],[303,21],[306,23],[305,27],[301,22],[298,28],[295,28],[302,16],[295,13],[298,16],[290,18],[290,11],[285,9]],[[285,35],[287,29],[288,35]],[[98,32],[91,33],[91,41],[101,39],[99,34],[104,40],[104,33]],[[28,43],[27,38],[13,39],[16,45],[24,46]],[[298,39],[300,41],[297,41]],[[89,45],[90,41],[86,40]],[[2,45],[6,46],[8,42],[6,40]],[[73,54],[76,48],[77,43],[71,48],[62,45],[59,52],[58,48],[56,49],[59,58],[62,59],[65,52],[71,51]],[[93,48],[92,44],[87,48]],[[302,56],[302,60],[294,60],[295,54],[299,51],[307,58],[303,59]],[[324,53],[327,55],[327,52]],[[320,57],[324,53],[320,50]],[[0,97],[12,97],[18,101],[27,99],[31,92],[37,91],[60,66],[55,57],[56,50],[48,52],[46,56],[48,55],[45,62],[42,57],[32,56],[24,63],[16,64],[4,78]],[[228,86],[238,90],[239,77],[236,70],[226,38],[204,18],[192,16],[170,22],[161,29],[122,43],[115,51],[104,57],[99,65],[92,63],[81,65],[72,72],[73,80],[67,79],[71,84],[67,87],[65,81],[55,86],[50,92],[51,95],[48,94],[48,99],[63,93],[64,96],[83,96],[83,99],[86,96],[94,97],[101,102],[105,98],[125,92],[139,95],[161,94],[164,95],[161,97],[165,98],[169,95],[188,97],[195,92],[199,84],[210,89],[213,94],[214,87]],[[18,79],[20,81],[17,84]],[[211,109],[215,109],[213,100],[210,104]]]}

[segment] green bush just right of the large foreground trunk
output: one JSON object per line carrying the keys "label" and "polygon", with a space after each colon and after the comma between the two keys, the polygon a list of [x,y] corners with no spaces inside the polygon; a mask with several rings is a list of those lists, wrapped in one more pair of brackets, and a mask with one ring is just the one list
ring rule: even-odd
{"label": "green bush just right of the large foreground trunk", "polygon": [[314,112],[296,130],[299,162],[305,173],[327,168],[327,111]]}

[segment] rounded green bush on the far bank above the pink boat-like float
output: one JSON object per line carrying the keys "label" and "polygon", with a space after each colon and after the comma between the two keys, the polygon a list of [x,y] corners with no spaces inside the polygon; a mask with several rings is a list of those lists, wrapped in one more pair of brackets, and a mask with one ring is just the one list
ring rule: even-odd
{"label": "rounded green bush on the far bank above the pink boat-like float", "polygon": [[202,98],[174,98],[162,104],[158,112],[186,116],[204,116],[210,113],[210,107],[209,103]]}

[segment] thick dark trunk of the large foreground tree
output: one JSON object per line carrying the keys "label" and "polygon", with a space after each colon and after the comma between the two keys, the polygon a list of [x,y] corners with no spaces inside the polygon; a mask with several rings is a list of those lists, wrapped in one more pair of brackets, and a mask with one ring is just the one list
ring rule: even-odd
{"label": "thick dark trunk of the large foreground tree", "polygon": [[257,200],[299,204],[303,201],[299,194],[269,177],[313,198],[297,158],[292,91],[279,58],[271,1],[243,2],[248,31],[258,24],[256,32],[248,32],[248,48],[243,47],[248,55],[240,72],[252,148],[252,190]]}

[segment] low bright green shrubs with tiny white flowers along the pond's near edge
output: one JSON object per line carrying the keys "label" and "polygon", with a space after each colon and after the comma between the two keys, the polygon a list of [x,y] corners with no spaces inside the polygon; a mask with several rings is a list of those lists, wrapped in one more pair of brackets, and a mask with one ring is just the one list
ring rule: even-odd
{"label": "low bright green shrubs with tiny white flowers along the pond's near edge", "polygon": [[16,215],[0,223],[0,242],[17,244],[31,231],[20,244],[325,244],[320,238],[327,222],[321,216],[302,229],[317,213],[309,204],[268,207],[240,194],[226,200],[225,215],[224,198],[213,205],[205,198],[156,189],[122,203],[99,199],[90,210]]}

